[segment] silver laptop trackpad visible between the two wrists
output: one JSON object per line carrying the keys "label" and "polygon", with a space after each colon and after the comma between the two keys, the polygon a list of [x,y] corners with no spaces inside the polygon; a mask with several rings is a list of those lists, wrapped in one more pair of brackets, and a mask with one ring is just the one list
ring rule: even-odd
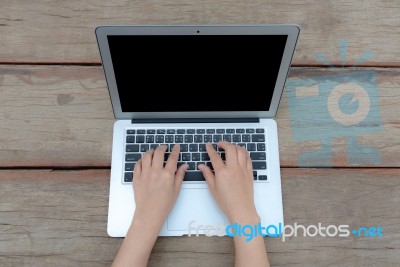
{"label": "silver laptop trackpad visible between the two wrists", "polygon": [[169,231],[188,231],[189,225],[215,228],[228,225],[228,220],[208,188],[187,188],[181,189],[167,223]]}

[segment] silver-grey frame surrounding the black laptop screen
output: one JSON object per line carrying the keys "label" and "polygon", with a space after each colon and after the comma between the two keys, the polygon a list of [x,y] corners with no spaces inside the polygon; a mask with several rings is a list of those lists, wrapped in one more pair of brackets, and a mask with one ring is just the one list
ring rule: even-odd
{"label": "silver-grey frame surrounding the black laptop screen", "polygon": [[[300,28],[297,25],[198,25],[198,26],[98,26],[97,43],[116,119],[147,118],[274,118],[278,111]],[[287,35],[281,66],[268,111],[201,111],[201,112],[122,112],[108,35]],[[201,77],[199,77],[201,78]]]}

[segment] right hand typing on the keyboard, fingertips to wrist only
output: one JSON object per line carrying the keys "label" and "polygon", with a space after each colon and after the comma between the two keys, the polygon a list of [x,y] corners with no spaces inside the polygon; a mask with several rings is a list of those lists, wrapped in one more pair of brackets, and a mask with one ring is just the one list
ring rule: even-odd
{"label": "right hand typing on the keyboard, fingertips to wrist only", "polygon": [[227,141],[219,142],[218,146],[225,150],[225,163],[213,146],[206,144],[215,174],[208,166],[199,165],[213,197],[230,223],[259,222],[254,205],[253,166],[249,153],[245,148]]}

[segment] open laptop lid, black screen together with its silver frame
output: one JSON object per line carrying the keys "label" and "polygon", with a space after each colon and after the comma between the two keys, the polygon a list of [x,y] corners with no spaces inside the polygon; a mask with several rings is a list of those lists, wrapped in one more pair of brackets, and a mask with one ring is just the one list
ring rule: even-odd
{"label": "open laptop lid, black screen together with its silver frame", "polygon": [[116,119],[273,118],[297,25],[99,26]]}

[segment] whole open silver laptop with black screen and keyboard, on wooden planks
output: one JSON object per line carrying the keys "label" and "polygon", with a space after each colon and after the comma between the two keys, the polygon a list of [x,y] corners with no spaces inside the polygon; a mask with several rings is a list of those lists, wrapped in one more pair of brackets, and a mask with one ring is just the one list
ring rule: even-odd
{"label": "whole open silver laptop with black screen and keyboard, on wooden planks", "polygon": [[[160,236],[228,225],[197,169],[199,162],[212,166],[205,144],[220,140],[244,146],[250,153],[262,226],[283,225],[274,118],[298,35],[297,25],[96,28],[116,118],[110,236],[124,237],[131,224],[135,163],[161,144],[171,148],[179,143],[178,164],[188,163],[189,170]],[[224,151],[218,153],[224,158]]]}

